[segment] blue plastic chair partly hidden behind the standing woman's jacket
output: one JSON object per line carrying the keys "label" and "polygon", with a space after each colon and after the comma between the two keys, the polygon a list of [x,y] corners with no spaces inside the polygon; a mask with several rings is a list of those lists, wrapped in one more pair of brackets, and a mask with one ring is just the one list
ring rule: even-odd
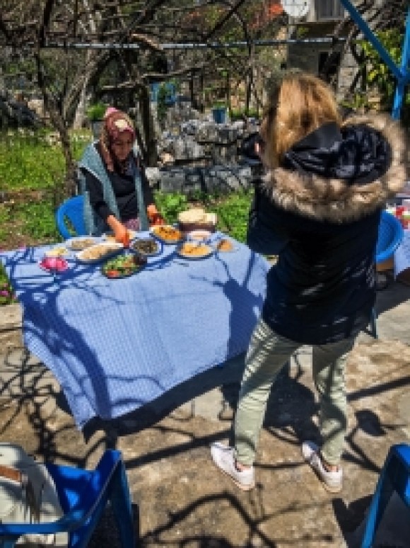
{"label": "blue plastic chair partly hidden behind the standing woman's jacket", "polygon": [[[402,243],[404,237],[403,227],[399,220],[387,211],[382,211],[382,217],[380,218],[379,234],[377,236],[375,263],[380,264],[387,261],[394,255],[394,251]],[[372,310],[372,316],[370,319],[370,333],[374,338],[378,338],[377,335],[377,313],[375,308]]]}

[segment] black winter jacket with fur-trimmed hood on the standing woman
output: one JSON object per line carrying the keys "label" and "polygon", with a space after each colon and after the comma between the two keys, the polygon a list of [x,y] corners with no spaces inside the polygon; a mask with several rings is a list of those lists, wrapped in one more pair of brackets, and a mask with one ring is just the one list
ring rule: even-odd
{"label": "black winter jacket with fur-trimmed hood on the standing woman", "polygon": [[281,336],[326,344],[368,325],[380,211],[406,182],[405,144],[387,116],[320,127],[256,185],[247,243],[278,254],[264,321]]}

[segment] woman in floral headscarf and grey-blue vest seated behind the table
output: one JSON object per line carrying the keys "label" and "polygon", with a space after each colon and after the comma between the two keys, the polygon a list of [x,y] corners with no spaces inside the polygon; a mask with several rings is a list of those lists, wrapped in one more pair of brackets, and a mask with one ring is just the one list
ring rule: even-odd
{"label": "woman in floral headscarf and grey-blue vest seated behind the table", "polygon": [[129,116],[107,108],[100,139],[86,148],[78,164],[88,233],[100,236],[112,230],[124,244],[129,230],[161,222],[134,141]]}

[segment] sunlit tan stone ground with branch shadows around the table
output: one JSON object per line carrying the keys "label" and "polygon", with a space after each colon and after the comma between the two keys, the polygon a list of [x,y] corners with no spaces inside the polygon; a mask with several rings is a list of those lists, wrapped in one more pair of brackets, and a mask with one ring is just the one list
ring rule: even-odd
{"label": "sunlit tan stone ground with branch shadows around the table", "polygon": [[[301,440],[318,439],[305,348],[271,392],[257,486],[249,493],[218,472],[209,453],[212,442],[230,437],[242,360],[177,387],[121,421],[80,432],[52,374],[22,348],[11,348],[0,365],[0,440],[20,443],[41,460],[86,468],[116,443],[144,548],[358,546],[387,451],[410,440],[410,346],[400,340],[409,336],[408,322],[407,335],[394,336],[400,332],[395,326],[408,318],[410,287],[401,291],[399,304],[381,310],[380,340],[363,334],[349,360],[345,481],[339,495],[324,491],[300,457]],[[400,517],[405,510],[397,506],[390,513],[378,547],[410,547],[410,520]],[[117,545],[107,514],[91,546]]]}

